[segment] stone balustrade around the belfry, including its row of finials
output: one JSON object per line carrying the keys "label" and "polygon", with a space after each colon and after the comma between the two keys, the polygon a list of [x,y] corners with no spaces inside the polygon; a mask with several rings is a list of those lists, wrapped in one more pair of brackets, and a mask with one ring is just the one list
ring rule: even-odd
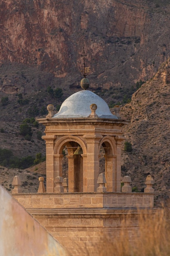
{"label": "stone balustrade around the belfry, including its row of finials", "polygon": [[123,178],[122,192],[106,192],[106,179],[104,174],[99,174],[97,192],[68,193],[68,179],[60,176],[55,178],[54,193],[46,193],[44,178],[39,178],[38,193],[21,193],[21,182],[18,176],[13,179],[13,197],[25,208],[153,208],[154,189],[153,179],[150,175],[146,178],[144,193],[132,193],[131,178]]}

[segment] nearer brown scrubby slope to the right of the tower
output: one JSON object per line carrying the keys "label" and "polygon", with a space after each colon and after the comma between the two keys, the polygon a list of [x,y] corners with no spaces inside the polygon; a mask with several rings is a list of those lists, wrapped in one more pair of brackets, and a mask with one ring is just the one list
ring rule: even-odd
{"label": "nearer brown scrubby slope to the right of the tower", "polygon": [[170,61],[132,96],[121,109],[130,119],[124,136],[132,151],[123,151],[122,174],[132,178],[132,186],[141,191],[148,174],[155,180],[156,199],[170,195]]}

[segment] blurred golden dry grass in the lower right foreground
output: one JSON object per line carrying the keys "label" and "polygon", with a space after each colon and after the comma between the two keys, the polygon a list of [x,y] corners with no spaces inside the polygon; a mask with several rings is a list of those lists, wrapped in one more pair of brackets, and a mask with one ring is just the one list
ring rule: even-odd
{"label": "blurred golden dry grass in the lower right foreground", "polygon": [[[123,225],[127,227],[127,220]],[[93,253],[86,250],[87,256],[170,256],[170,210],[160,209],[151,214],[139,216],[139,229],[135,240],[129,239],[128,229],[120,231],[114,239],[105,237],[93,246]],[[82,255],[82,254],[81,254]],[[83,254],[84,255],[84,254]]]}

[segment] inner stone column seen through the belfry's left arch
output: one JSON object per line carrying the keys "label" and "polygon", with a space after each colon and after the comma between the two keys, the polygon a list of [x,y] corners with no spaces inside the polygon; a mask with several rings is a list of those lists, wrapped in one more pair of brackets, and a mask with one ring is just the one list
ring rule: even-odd
{"label": "inner stone column seen through the belfry's left arch", "polygon": [[74,181],[75,181],[75,177],[74,177],[74,157],[73,155],[67,155],[66,156],[68,159],[68,192],[74,192]]}

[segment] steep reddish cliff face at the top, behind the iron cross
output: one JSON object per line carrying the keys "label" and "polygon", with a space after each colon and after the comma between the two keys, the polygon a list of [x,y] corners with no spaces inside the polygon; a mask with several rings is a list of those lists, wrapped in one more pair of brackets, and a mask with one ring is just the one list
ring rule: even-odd
{"label": "steep reddish cliff face at the top, behind the iron cross", "polygon": [[1,63],[50,72],[68,90],[79,81],[84,46],[91,87],[129,88],[152,77],[169,56],[167,2],[2,0]]}

